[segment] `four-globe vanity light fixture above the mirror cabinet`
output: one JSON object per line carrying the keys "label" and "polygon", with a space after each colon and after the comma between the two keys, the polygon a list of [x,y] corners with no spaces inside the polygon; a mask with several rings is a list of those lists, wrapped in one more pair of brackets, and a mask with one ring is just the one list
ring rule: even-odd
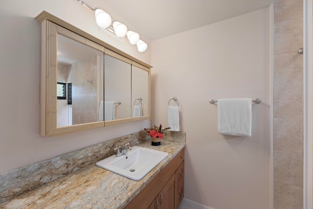
{"label": "four-globe vanity light fixture above the mirror cabinet", "polygon": [[123,38],[125,35],[127,35],[130,44],[136,44],[139,52],[144,52],[148,48],[148,45],[139,39],[140,37],[138,33],[131,30],[127,31],[127,26],[125,24],[113,20],[107,12],[103,11],[100,8],[93,9],[82,0],[77,1],[79,1],[83,6],[86,6],[89,10],[94,12],[96,23],[99,27],[106,28],[110,32],[114,33],[118,38]]}

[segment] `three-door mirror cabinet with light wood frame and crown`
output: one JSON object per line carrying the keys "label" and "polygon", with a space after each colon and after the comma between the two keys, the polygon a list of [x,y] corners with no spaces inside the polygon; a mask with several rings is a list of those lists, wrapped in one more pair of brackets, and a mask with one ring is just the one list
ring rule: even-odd
{"label": "three-door mirror cabinet with light wood frame and crown", "polygon": [[150,118],[152,66],[43,11],[41,135]]}

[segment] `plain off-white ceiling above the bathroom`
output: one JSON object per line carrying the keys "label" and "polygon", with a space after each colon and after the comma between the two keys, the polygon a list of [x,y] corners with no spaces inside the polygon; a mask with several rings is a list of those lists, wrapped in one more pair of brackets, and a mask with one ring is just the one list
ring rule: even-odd
{"label": "plain off-white ceiling above the bathroom", "polygon": [[[110,10],[118,13],[124,21],[131,23],[136,32],[153,41],[262,9],[278,0],[102,1],[110,5]],[[103,9],[107,11],[106,8]],[[110,11],[107,12],[110,14]]]}

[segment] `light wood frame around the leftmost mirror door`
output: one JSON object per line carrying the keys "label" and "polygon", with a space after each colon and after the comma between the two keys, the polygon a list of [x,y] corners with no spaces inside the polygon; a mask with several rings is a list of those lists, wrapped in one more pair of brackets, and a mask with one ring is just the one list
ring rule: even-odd
{"label": "light wood frame around the leftmost mirror door", "polygon": [[42,53],[41,65],[45,68],[42,68],[41,70],[42,80],[40,89],[41,102],[44,102],[41,104],[41,122],[45,122],[41,125],[41,135],[49,137],[104,127],[104,121],[57,127],[57,34],[62,34],[102,52],[104,52],[104,47],[50,21],[46,21],[43,26],[45,26],[43,27],[45,28],[45,31],[44,29],[42,30],[42,38],[43,41],[45,41],[43,43],[46,43],[46,45],[42,46],[43,52],[45,53]]}

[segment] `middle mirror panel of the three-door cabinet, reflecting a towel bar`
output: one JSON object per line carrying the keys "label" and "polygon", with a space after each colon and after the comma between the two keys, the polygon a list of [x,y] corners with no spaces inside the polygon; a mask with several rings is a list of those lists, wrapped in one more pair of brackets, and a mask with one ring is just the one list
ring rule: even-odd
{"label": "middle mirror panel of the three-door cabinet, reflecting a towel bar", "polygon": [[[117,55],[116,55],[117,56]],[[104,55],[104,120],[131,117],[131,64],[110,55]]]}

